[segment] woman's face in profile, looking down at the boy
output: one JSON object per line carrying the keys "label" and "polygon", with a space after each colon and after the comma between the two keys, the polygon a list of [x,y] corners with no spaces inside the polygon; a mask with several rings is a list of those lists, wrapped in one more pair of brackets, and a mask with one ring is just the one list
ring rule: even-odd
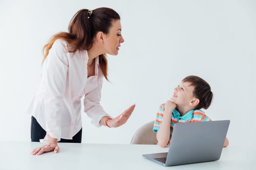
{"label": "woman's face in profile, looking down at the boy", "polygon": [[106,53],[110,55],[118,55],[119,47],[124,39],[121,35],[121,23],[120,20],[114,20],[112,27],[109,29],[108,34],[104,34],[103,47]]}

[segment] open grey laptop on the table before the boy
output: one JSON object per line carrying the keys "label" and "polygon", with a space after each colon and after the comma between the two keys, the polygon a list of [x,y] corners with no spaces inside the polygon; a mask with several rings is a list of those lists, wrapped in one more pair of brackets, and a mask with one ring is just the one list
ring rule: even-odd
{"label": "open grey laptop on the table before the boy", "polygon": [[220,158],[230,120],[177,123],[168,153],[143,154],[163,166],[216,161]]}

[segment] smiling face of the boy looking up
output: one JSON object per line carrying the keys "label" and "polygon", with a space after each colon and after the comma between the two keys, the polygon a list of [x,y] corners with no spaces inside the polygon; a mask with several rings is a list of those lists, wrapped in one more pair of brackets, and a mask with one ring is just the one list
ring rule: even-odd
{"label": "smiling face of the boy looking up", "polygon": [[180,84],[174,88],[171,101],[176,103],[177,106],[186,107],[189,106],[191,101],[195,98],[193,96],[194,86],[190,85],[190,82],[180,82]]}

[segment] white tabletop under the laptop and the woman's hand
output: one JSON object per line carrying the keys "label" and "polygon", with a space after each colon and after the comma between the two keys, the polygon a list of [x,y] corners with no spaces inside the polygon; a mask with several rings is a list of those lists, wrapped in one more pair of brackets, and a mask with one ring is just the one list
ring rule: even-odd
{"label": "white tabletop under the laptop and the woman's hand", "polygon": [[256,170],[256,149],[229,146],[218,161],[164,167],[144,153],[167,152],[157,145],[59,143],[60,152],[30,155],[37,142],[0,142],[0,170]]}

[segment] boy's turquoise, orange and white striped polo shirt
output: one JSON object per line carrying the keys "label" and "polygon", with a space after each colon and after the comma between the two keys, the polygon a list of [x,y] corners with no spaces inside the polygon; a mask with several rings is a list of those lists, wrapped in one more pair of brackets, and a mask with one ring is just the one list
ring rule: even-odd
{"label": "boy's turquoise, orange and white striped polo shirt", "polygon": [[[154,127],[153,127],[154,132],[158,132],[158,129],[162,123],[164,106],[165,106],[165,103],[161,104],[158,109],[157,119],[155,120]],[[202,110],[199,110],[199,109],[190,110],[183,116],[180,116],[180,113],[176,109],[174,109],[172,113],[172,118],[170,120],[170,139],[168,141],[168,145],[170,144],[173,128],[176,123],[200,122],[200,121],[212,121],[212,120],[208,116],[206,116]]]}

